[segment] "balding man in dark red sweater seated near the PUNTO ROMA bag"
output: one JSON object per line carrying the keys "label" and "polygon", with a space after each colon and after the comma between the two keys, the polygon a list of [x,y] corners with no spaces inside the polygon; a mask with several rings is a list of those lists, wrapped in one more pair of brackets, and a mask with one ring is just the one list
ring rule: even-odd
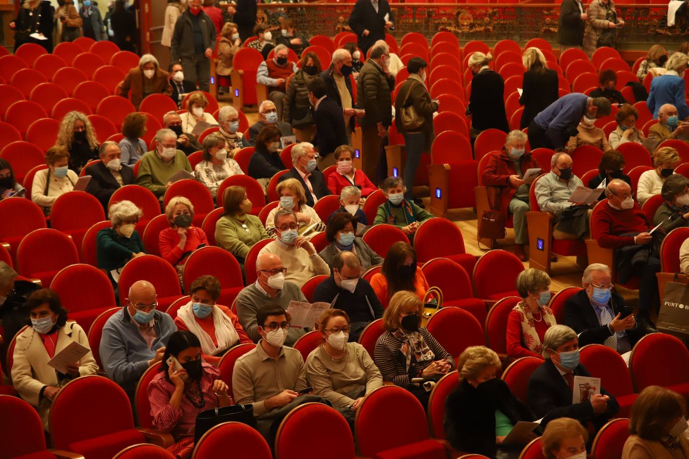
{"label": "balding man in dark red sweater seated near the PUNTO ROMA bag", "polygon": [[[655,332],[650,320],[650,310],[659,304],[656,273],[660,271],[660,259],[652,241],[653,236],[649,233],[650,224],[639,204],[632,198],[631,186],[624,180],[610,180],[605,195],[608,201],[600,204],[591,215],[591,236],[602,248],[621,249],[616,250],[619,283],[626,282],[626,279],[621,279],[623,272],[639,275],[637,322],[642,327],[645,326],[648,332]],[[639,246],[638,250],[633,246]],[[644,249],[647,253],[640,257]]]}

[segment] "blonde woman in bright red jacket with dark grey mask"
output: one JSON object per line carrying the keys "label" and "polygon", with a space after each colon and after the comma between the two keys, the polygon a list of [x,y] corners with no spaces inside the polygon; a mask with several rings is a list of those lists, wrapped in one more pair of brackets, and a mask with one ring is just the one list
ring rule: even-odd
{"label": "blonde woman in bright red jacket with dark grey mask", "polygon": [[[170,223],[158,236],[161,257],[172,266],[183,266],[184,261],[197,248],[208,245],[206,233],[192,225],[194,205],[184,196],[175,196],[165,207],[165,216]],[[178,271],[181,270],[178,268]]]}

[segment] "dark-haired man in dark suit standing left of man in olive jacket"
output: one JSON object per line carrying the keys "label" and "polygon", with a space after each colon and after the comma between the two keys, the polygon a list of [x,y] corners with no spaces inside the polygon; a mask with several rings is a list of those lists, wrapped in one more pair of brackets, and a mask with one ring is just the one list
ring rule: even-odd
{"label": "dark-haired man in dark suit standing left of man in olive jacket", "polygon": [[325,81],[311,78],[306,84],[309,90],[309,101],[313,105],[313,119],[316,120],[316,138],[313,143],[318,145],[318,169],[335,164],[333,152],[340,145],[347,145],[347,128],[342,108],[327,96]]}

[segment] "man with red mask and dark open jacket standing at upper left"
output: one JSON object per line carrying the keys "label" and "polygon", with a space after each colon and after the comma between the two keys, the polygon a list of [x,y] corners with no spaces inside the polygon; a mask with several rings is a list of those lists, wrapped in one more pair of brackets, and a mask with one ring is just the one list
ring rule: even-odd
{"label": "man with red mask and dark open jacket standing at upper left", "polygon": [[208,91],[211,79],[210,58],[216,47],[213,21],[201,10],[201,0],[189,1],[189,8],[179,15],[172,32],[172,62],[180,61],[189,81],[198,81],[198,89]]}

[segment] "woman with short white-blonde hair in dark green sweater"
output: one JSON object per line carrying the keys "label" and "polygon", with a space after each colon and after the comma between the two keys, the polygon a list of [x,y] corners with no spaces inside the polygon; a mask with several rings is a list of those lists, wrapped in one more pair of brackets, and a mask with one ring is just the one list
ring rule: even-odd
{"label": "woman with short white-blonde hair in dark green sweater", "polygon": [[96,236],[96,259],[98,267],[107,271],[110,281],[116,285],[127,261],[146,254],[136,231],[143,212],[134,202],[119,201],[110,206],[107,215],[112,226]]}

